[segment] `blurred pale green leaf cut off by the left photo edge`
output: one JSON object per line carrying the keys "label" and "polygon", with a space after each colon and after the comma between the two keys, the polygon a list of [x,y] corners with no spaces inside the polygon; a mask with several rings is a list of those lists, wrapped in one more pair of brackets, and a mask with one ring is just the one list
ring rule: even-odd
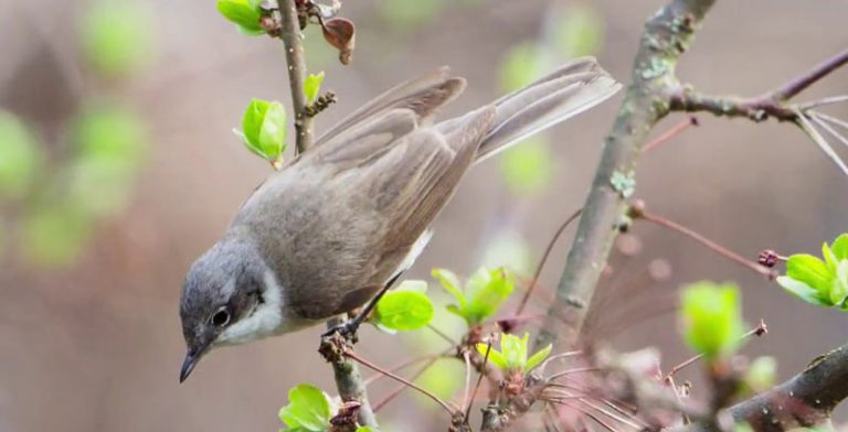
{"label": "blurred pale green leaf cut off by the left photo edge", "polygon": [[0,110],[0,198],[25,196],[41,164],[41,143],[26,126]]}

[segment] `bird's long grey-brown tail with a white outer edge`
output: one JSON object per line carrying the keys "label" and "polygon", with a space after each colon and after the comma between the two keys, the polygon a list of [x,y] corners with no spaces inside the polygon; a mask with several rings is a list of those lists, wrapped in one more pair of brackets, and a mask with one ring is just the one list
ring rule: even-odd
{"label": "bird's long grey-brown tail with a white outer edge", "polygon": [[[584,57],[496,100],[492,105],[497,108],[497,115],[477,150],[477,162],[594,107],[621,87],[594,58]],[[448,132],[473,118],[470,116],[474,112],[441,122],[436,127]]]}

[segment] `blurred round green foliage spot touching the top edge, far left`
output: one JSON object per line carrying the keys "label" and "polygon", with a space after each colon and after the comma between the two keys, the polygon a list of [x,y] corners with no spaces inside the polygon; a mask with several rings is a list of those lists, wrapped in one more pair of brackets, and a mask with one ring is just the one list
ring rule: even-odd
{"label": "blurred round green foliage spot touching the top edge, far left", "polygon": [[106,76],[137,72],[153,58],[153,22],[145,2],[98,0],[82,18],[84,55]]}

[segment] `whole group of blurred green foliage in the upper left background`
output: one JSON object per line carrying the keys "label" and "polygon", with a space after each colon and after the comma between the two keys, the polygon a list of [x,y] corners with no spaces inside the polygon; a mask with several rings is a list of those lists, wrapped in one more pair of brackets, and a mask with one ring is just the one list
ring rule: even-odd
{"label": "whole group of blurred green foliage in the upper left background", "polygon": [[[91,3],[78,22],[81,61],[91,64],[94,78],[120,84],[116,78],[152,60],[152,23],[142,2]],[[26,263],[74,264],[96,224],[129,202],[147,156],[147,126],[130,107],[110,101],[115,86],[108,88],[82,100],[64,122],[57,142],[65,147],[46,145],[22,120],[0,110],[0,202],[17,204],[2,216],[14,226]]]}

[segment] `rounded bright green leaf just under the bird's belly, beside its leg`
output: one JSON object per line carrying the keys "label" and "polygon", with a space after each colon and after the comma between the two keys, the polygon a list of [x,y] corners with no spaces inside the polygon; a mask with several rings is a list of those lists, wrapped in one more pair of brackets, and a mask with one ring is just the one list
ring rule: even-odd
{"label": "rounded bright green leaf just under the bird's belly, beside its leg", "polygon": [[377,304],[375,318],[381,325],[392,330],[421,328],[433,320],[433,303],[420,292],[391,291]]}

